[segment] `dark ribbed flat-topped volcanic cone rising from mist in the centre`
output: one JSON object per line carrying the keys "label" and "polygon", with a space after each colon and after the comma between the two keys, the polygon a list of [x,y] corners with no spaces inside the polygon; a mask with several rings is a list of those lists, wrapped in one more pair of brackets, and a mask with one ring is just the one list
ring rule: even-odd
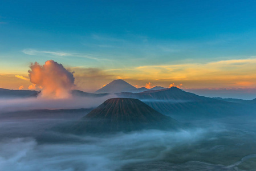
{"label": "dark ribbed flat-topped volcanic cone rising from mist in the centre", "polygon": [[83,134],[178,128],[178,121],[162,115],[138,99],[114,98],[104,101],[72,125],[71,131]]}

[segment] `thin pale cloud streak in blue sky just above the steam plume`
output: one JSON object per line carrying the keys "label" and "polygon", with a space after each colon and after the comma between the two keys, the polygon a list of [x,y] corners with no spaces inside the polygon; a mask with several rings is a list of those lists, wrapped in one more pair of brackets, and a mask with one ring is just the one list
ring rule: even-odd
{"label": "thin pale cloud streak in blue sky just above the steam plume", "polygon": [[38,51],[33,48],[26,48],[22,50],[24,54],[27,55],[51,55],[51,56],[59,56],[59,57],[67,57],[72,56],[75,58],[88,58],[88,59],[94,59],[94,60],[109,60],[109,59],[103,59],[103,58],[96,58],[93,55],[87,55],[87,54],[79,54],[74,52],[63,52],[63,51]]}

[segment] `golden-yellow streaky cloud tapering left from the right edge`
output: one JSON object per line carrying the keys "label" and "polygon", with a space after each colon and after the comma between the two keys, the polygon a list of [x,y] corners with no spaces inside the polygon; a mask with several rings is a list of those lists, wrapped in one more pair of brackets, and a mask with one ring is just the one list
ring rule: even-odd
{"label": "golden-yellow streaky cloud tapering left from the right edge", "polygon": [[[256,58],[220,60],[209,63],[187,63],[173,65],[140,66],[135,69],[147,73],[151,78],[159,74],[159,78],[177,78],[183,79],[231,79],[239,76],[255,77]],[[153,74],[153,75],[152,75]],[[228,77],[228,78],[227,78]]]}

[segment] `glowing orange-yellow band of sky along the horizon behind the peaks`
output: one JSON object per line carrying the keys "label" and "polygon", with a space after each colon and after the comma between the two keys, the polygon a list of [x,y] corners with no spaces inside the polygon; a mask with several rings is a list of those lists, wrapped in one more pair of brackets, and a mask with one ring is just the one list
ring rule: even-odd
{"label": "glowing orange-yellow band of sky along the horizon behind the peaks", "polygon": [[[123,79],[137,88],[155,86],[183,88],[255,88],[256,58],[220,60],[209,63],[187,63],[160,66],[140,66],[89,72],[87,68],[70,67],[75,71],[76,89],[96,91],[115,79]],[[22,88],[23,86],[23,88]],[[28,74],[0,74],[0,88],[29,89]]]}

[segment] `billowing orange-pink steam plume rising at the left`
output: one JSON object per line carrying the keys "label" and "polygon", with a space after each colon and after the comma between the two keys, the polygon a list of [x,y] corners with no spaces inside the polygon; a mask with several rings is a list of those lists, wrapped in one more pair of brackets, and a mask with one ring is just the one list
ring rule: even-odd
{"label": "billowing orange-pink steam plume rising at the left", "polygon": [[30,68],[30,82],[42,88],[42,97],[63,99],[70,96],[75,78],[62,64],[47,60],[43,66],[35,62]]}

